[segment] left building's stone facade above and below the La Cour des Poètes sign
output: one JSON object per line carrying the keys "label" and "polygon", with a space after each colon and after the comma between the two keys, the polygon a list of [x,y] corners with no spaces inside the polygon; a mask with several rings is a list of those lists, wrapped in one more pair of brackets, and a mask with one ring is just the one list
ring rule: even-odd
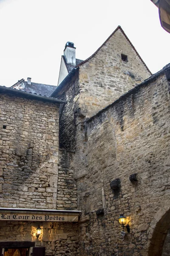
{"label": "left building's stone facade above and below the La Cour des Po\u00e8tes sign", "polygon": [[[77,209],[74,153],[59,151],[59,102],[4,90],[0,95],[0,207]],[[42,234],[37,239],[38,225]],[[35,247],[45,247],[46,256],[73,256],[78,255],[77,239],[77,222],[0,221],[0,246],[3,241],[31,241]]]}

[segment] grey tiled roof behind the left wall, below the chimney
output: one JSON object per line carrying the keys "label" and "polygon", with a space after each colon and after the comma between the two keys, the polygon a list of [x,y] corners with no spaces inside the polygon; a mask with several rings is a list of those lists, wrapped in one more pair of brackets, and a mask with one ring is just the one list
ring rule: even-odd
{"label": "grey tiled roof behind the left wall, below the chimney", "polygon": [[41,94],[42,96],[50,96],[51,93],[57,88],[55,85],[49,84],[38,84],[33,83],[28,84],[24,79],[19,80],[16,84],[11,86],[12,89],[16,88],[17,90],[22,90],[27,93],[36,93]]}

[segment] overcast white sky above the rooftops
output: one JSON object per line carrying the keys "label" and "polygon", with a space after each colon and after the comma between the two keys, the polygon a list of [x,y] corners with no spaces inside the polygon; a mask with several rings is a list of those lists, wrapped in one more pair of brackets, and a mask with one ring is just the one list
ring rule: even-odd
{"label": "overcast white sky above the rooftops", "polygon": [[150,0],[0,0],[0,85],[57,85],[67,41],[85,60],[118,25],[152,73],[170,62],[170,34]]}

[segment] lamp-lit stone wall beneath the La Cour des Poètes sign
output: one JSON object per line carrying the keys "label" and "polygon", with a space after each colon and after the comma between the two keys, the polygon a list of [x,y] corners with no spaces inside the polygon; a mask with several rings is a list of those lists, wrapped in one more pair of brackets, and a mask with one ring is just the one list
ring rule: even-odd
{"label": "lamp-lit stone wall beneath the La Cour des Po\u00e8tes sign", "polygon": [[46,247],[45,256],[78,256],[78,224],[42,222],[42,234],[37,239],[38,222],[1,221],[0,241],[33,241],[36,247]]}

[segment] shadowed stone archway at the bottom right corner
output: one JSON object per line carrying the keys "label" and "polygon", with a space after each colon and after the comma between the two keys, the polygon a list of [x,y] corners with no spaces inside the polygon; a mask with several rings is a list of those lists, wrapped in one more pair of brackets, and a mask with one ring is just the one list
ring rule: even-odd
{"label": "shadowed stone archway at the bottom right corner", "polygon": [[170,204],[161,208],[150,224],[149,233],[152,233],[148,256],[162,256],[164,241],[170,228]]}

